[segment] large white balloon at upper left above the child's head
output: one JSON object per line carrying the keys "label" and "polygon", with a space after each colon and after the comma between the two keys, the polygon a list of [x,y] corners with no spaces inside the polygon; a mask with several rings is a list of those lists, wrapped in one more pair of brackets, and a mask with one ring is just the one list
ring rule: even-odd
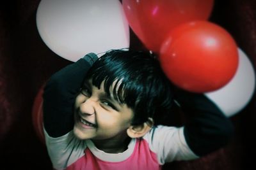
{"label": "large white balloon at upper left above the child's head", "polygon": [[129,25],[118,0],[42,0],[36,26],[54,53],[73,62],[86,53],[129,47]]}

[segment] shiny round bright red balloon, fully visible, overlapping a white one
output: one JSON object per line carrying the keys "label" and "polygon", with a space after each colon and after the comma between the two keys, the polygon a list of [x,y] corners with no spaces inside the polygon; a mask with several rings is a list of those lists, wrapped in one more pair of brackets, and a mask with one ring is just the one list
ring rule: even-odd
{"label": "shiny round bright red balloon, fully visible, overlapping a white one", "polygon": [[178,87],[210,92],[226,85],[236,73],[237,45],[219,25],[189,22],[170,32],[159,60],[166,76]]}

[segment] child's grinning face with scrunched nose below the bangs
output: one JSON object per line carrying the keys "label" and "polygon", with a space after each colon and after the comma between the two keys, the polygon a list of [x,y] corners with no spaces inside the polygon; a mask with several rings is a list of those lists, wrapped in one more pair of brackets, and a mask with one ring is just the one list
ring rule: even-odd
{"label": "child's grinning face with scrunched nose below the bangs", "polygon": [[[76,97],[74,134],[79,139],[119,139],[131,125],[133,111],[88,80]],[[115,82],[114,82],[115,83]]]}

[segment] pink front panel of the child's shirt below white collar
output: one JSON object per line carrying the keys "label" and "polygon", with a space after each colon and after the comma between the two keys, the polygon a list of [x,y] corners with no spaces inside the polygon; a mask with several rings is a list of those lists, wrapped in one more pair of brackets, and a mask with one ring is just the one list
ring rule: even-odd
{"label": "pink front panel of the child's shirt below white collar", "polygon": [[68,170],[74,169],[141,169],[141,170],[153,170],[161,169],[157,161],[156,153],[152,152],[148,148],[148,143],[145,140],[136,140],[136,145],[134,147],[134,152],[128,159],[121,162],[109,162],[95,157],[89,148],[84,151],[83,157],[78,159],[76,162],[67,167]]}

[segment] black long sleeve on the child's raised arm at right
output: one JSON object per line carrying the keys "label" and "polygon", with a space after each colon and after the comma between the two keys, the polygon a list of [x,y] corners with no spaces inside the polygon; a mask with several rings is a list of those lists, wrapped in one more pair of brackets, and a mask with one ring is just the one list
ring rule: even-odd
{"label": "black long sleeve on the child's raised arm at right", "polygon": [[184,136],[189,148],[198,156],[227,145],[234,135],[232,122],[204,94],[177,90],[176,100],[189,118]]}

